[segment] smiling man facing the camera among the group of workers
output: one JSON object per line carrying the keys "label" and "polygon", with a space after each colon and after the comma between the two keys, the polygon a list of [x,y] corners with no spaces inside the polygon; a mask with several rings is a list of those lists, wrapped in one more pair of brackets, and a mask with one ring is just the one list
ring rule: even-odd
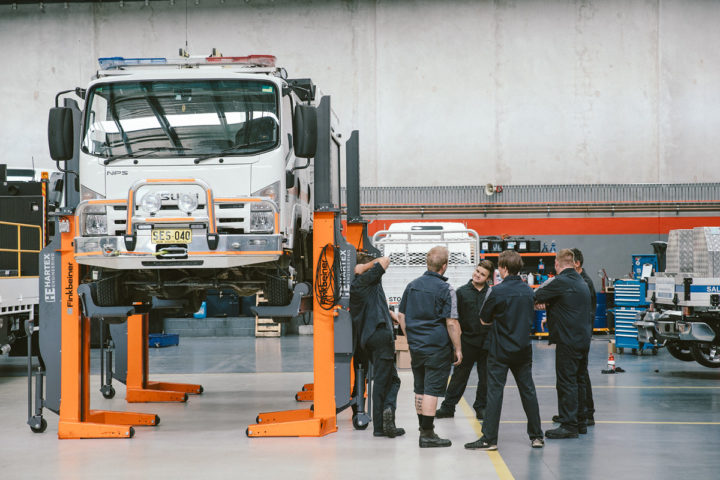
{"label": "smiling man facing the camera among the group of workers", "polygon": [[473,409],[478,420],[483,418],[487,403],[487,347],[485,340],[490,326],[480,323],[480,311],[492,290],[488,278],[494,271],[495,265],[490,260],[483,260],[475,267],[470,281],[457,289],[463,361],[453,369],[445,400],[435,412],[435,418],[455,416],[455,406],[465,392],[470,372],[475,366],[477,366],[478,385]]}

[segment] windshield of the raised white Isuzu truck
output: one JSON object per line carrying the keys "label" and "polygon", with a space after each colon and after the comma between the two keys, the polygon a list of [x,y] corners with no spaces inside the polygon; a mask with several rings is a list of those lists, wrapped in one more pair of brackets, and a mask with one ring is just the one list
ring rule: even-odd
{"label": "windshield of the raised white Isuzu truck", "polygon": [[278,143],[273,83],[142,81],[89,92],[82,149],[103,157],[252,155]]}

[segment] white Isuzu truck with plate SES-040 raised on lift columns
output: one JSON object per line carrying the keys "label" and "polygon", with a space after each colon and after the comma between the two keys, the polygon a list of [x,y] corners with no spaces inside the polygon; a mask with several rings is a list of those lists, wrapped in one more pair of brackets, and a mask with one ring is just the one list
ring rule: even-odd
{"label": "white Isuzu truck with plate SES-040 raised on lift columns", "polygon": [[[101,58],[51,109],[51,156],[77,189],[75,257],[101,305],[310,279],[315,86],[275,57]],[[73,163],[74,162],[74,163]]]}

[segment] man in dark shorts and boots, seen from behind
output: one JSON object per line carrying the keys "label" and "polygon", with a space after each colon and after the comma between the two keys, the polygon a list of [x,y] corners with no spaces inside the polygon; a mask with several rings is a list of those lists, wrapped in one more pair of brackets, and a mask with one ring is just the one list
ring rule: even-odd
{"label": "man in dark shorts and boots, seen from behind", "polygon": [[398,320],[410,347],[420,448],[452,445],[438,437],[434,427],[437,399],[445,396],[451,365],[462,362],[457,298],[443,277],[448,257],[446,247],[431,248],[427,271],[405,287],[400,301]]}

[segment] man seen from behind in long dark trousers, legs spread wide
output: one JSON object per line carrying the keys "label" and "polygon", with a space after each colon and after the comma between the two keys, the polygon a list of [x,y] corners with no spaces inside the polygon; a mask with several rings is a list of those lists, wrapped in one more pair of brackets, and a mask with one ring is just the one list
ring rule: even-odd
{"label": "man seen from behind in long dark trousers, legs spread wide", "polygon": [[530,334],[535,320],[533,292],[518,275],[522,265],[519,253],[506,250],[500,254],[498,270],[503,281],[493,287],[480,313],[483,323],[492,323],[487,360],[487,407],[482,426],[483,436],[465,444],[465,448],[470,450],[497,450],[500,412],[508,370],[515,377],[520,392],[520,400],[528,421],[530,445],[533,448],[542,448],[544,445],[540,409],[532,379]]}

